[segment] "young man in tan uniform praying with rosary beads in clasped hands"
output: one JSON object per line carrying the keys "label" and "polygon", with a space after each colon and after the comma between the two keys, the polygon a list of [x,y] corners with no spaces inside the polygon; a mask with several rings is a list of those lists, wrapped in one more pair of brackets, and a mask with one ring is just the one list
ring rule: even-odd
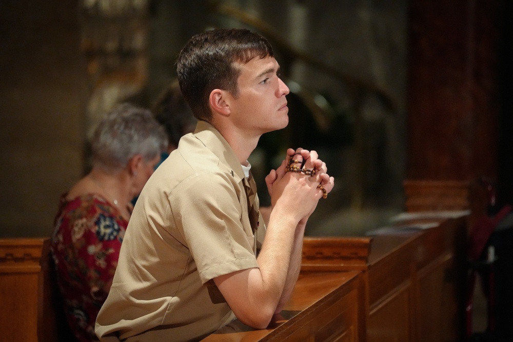
{"label": "young man in tan uniform praying with rosary beads in clasped hands", "polygon": [[141,192],[96,319],[102,341],[199,340],[235,318],[265,328],[297,281],[307,220],[333,188],[315,151],[288,149],[266,177],[267,225],[259,213],[248,157],[288,124],[289,89],[266,38],[197,34],[177,75],[198,125]]}

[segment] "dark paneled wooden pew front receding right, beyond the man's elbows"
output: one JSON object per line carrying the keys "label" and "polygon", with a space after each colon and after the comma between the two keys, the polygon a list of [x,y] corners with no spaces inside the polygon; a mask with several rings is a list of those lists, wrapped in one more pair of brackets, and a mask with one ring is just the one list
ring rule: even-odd
{"label": "dark paneled wooden pew front receding right, beyond the man's elbows", "polygon": [[459,341],[466,217],[420,233],[376,236],[367,270],[367,341]]}

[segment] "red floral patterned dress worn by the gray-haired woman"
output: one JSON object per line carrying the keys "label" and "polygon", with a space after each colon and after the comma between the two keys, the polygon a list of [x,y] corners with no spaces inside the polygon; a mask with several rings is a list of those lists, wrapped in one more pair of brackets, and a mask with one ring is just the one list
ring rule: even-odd
{"label": "red floral patterned dress worn by the gray-haired woman", "polygon": [[97,340],[94,323],[117,267],[128,225],[106,199],[87,194],[61,197],[51,251],[71,330],[79,341]]}

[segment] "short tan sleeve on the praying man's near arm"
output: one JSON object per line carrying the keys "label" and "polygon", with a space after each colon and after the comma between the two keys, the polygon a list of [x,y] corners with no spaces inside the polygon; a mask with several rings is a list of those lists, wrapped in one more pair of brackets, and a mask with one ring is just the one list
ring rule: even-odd
{"label": "short tan sleeve on the praying man's near arm", "polygon": [[[220,275],[258,267],[254,236],[243,222],[247,209],[236,180],[221,172],[197,173],[173,191],[176,227],[187,242],[203,283]],[[245,202],[244,202],[245,205]]]}

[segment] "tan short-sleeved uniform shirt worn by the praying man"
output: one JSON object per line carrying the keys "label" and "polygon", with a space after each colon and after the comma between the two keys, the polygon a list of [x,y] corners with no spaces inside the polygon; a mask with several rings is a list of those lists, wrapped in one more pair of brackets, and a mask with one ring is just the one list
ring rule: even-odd
{"label": "tan short-sleeved uniform shirt worn by the praying man", "polygon": [[137,199],[96,319],[102,341],[194,340],[235,318],[211,279],[258,267],[257,237],[263,239],[265,225],[260,216],[255,237],[244,177],[208,123],[182,137]]}

